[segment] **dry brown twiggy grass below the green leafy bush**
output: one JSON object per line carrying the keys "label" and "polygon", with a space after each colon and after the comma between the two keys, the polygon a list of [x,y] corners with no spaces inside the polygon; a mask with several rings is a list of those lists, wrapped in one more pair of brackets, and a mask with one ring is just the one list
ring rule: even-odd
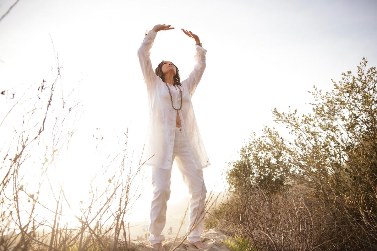
{"label": "dry brown twiggy grass below the green leafy bush", "polygon": [[250,184],[241,194],[228,193],[211,208],[206,226],[247,239],[254,250],[342,250],[333,212],[308,187],[293,184],[279,193]]}

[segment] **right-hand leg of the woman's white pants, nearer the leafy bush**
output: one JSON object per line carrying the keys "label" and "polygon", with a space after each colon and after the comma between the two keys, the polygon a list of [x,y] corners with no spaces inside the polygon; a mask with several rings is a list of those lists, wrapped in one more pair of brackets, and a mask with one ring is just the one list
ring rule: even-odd
{"label": "right-hand leg of the woman's white pants, nearer the leafy bush", "polygon": [[[204,184],[203,170],[196,169],[183,135],[183,129],[179,132],[177,149],[177,166],[182,173],[182,178],[189,188],[191,195],[189,205],[189,226],[187,227],[187,240],[197,242],[204,230],[205,198],[207,189]],[[195,227],[194,227],[195,226]],[[193,228],[193,229],[192,229]]]}

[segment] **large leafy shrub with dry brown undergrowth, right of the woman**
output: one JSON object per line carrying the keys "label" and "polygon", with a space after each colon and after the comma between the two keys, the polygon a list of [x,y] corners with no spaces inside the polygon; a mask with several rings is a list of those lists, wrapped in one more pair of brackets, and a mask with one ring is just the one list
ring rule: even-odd
{"label": "large leafy shrub with dry brown undergrowth, right of the woman", "polygon": [[367,62],[331,92],[314,86],[313,113],[275,108],[291,138],[265,127],[232,163],[224,206],[255,248],[377,250],[377,72]]}

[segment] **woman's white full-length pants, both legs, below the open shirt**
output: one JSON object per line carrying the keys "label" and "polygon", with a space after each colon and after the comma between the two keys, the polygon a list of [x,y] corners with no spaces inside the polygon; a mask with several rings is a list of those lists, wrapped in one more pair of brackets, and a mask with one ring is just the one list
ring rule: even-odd
{"label": "woman's white full-length pants, both legs, below the open shirt", "polygon": [[196,225],[195,228],[187,236],[190,242],[200,240],[200,235],[204,230],[204,202],[207,190],[205,189],[203,170],[196,169],[191,160],[189,149],[183,135],[184,128],[175,128],[175,140],[173,147],[173,158],[170,169],[162,169],[152,166],[152,184],[153,184],[153,200],[150,209],[149,224],[149,243],[155,243],[165,240],[165,236],[161,235],[166,224],[167,201],[170,198],[170,176],[172,174],[172,166],[175,157],[177,157],[177,166],[182,173],[183,181],[189,187],[190,205],[189,205],[189,226],[187,233]]}

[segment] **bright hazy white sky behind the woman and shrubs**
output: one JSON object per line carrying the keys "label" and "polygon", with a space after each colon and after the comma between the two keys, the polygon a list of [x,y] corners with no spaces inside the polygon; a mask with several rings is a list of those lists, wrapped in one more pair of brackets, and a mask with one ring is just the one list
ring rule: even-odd
{"label": "bright hazy white sky behind the woman and shrubs", "polygon": [[[0,16],[13,3],[2,0]],[[227,163],[238,158],[252,132],[261,135],[267,125],[284,134],[274,124],[274,108],[306,113],[314,101],[308,93],[313,85],[331,90],[331,79],[356,73],[364,56],[370,67],[376,65],[376,7],[365,0],[20,0],[0,21],[0,89],[9,95],[40,83],[56,68],[58,55],[61,87],[66,93],[76,88],[72,96],[82,104],[68,157],[60,162],[65,167],[60,178],[75,183],[71,193],[79,194],[80,181],[100,158],[93,158],[92,135],[104,137],[106,156],[119,150],[128,129],[127,149],[138,163],[148,125],[147,89],[137,58],[145,32],[156,24],[175,27],[157,33],[150,57],[153,68],[161,60],[173,62],[185,79],[195,65],[195,41],[180,29],[191,30],[207,50],[192,102],[211,162],[203,169],[204,180],[208,191],[218,193],[227,187]],[[2,117],[11,106],[5,96],[0,96]],[[148,168],[135,221],[149,219]],[[188,198],[175,164],[171,189],[169,203]]]}

